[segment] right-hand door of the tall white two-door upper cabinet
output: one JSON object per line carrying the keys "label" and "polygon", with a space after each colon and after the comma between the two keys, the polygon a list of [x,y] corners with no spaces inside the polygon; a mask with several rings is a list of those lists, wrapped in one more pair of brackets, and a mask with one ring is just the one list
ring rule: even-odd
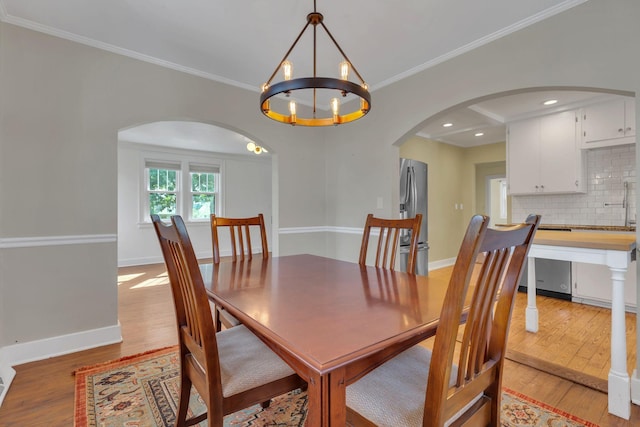
{"label": "right-hand door of the tall white two-door upper cabinet", "polygon": [[575,111],[540,118],[540,187],[544,193],[575,192],[579,188],[576,121]]}

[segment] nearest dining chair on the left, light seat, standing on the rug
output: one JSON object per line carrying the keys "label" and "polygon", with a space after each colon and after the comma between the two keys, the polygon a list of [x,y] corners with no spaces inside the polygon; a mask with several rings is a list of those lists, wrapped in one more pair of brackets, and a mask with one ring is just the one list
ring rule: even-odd
{"label": "nearest dining chair on the left, light seat, standing on the rug", "polygon": [[[187,229],[180,216],[165,225],[151,216],[165,264],[178,326],[180,400],[176,426],[208,419],[222,427],[223,417],[306,386],[294,371],[244,326],[216,332],[209,300]],[[207,412],[187,419],[191,386]]]}

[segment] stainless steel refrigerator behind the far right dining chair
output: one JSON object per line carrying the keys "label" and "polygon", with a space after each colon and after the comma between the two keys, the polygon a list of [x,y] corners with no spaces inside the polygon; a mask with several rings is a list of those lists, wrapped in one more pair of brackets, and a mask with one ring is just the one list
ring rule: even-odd
{"label": "stainless steel refrigerator behind the far right dining chair", "polygon": [[[427,164],[417,160],[400,159],[400,217],[413,218],[422,214],[418,237],[416,274],[429,275],[429,233],[427,229]],[[400,237],[400,269],[406,271],[411,231]]]}

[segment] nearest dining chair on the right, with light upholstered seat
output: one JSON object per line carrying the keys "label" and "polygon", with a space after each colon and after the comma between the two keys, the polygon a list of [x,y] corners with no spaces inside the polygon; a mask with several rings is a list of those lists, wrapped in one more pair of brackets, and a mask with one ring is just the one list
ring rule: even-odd
{"label": "nearest dining chair on the right, with light upholstered seat", "polygon": [[486,216],[471,219],[433,350],[411,347],[349,385],[351,425],[500,425],[514,294],[539,222],[539,215],[530,215],[520,225],[496,230],[488,228]]}

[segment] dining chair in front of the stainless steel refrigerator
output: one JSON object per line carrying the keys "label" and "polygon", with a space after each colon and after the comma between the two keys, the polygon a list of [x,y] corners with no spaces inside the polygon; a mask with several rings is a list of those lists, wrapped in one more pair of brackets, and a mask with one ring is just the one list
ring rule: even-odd
{"label": "dining chair in front of the stainless steel refrigerator", "polygon": [[404,236],[407,236],[409,239],[407,272],[414,274],[416,271],[418,237],[420,235],[421,224],[422,214],[416,214],[414,218],[407,219],[384,219],[376,218],[373,214],[367,215],[358,263],[360,265],[367,264],[367,250],[369,248],[370,236],[373,230],[378,230],[380,234],[376,245],[375,266],[395,270],[396,254],[398,252],[400,241]]}

